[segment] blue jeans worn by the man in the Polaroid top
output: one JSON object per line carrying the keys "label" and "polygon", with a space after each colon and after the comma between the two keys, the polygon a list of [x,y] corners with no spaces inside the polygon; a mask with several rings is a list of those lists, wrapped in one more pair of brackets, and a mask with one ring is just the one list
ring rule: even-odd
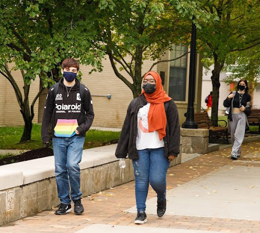
{"label": "blue jeans worn by the man in the Polaroid top", "polygon": [[82,195],[80,188],[79,162],[85,137],[74,135],[72,137],[53,137],[53,153],[55,160],[55,178],[58,189],[58,197],[63,204],[69,204],[72,200],[79,199]]}

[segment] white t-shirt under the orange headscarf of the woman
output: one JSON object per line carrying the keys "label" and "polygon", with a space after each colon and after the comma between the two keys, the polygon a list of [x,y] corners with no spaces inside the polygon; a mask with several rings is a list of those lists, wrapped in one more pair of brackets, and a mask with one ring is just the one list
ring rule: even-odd
{"label": "white t-shirt under the orange headscarf of the woman", "polygon": [[163,139],[159,139],[159,133],[154,130],[148,132],[148,111],[150,103],[141,107],[137,113],[136,149],[155,149],[164,147]]}

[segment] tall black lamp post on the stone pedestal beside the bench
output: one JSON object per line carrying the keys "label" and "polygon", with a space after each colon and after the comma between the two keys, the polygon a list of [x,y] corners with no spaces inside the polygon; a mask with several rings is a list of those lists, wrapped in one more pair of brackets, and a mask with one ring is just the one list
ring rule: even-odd
{"label": "tall black lamp post on the stone pedestal beside the bench", "polygon": [[182,128],[197,128],[194,121],[194,94],[195,94],[195,78],[196,78],[196,25],[192,18],[191,41],[190,41],[190,61],[189,61],[189,77],[188,77],[188,107],[186,112],[186,121],[182,124]]}

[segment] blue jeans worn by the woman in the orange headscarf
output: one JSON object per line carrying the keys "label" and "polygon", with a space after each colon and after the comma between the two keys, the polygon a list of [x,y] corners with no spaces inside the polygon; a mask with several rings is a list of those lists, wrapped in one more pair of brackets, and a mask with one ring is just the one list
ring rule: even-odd
{"label": "blue jeans worn by the woman in the orange headscarf", "polygon": [[137,150],[139,158],[132,160],[135,176],[135,199],[137,211],[145,210],[149,182],[157,193],[157,199],[166,198],[166,173],[169,166],[164,147]]}

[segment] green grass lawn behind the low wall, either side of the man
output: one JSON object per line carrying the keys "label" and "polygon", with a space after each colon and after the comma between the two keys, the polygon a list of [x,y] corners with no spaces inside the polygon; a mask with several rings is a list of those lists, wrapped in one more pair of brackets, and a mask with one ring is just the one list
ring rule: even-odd
{"label": "green grass lawn behind the low wall, either side of the man", "polygon": [[[0,149],[37,149],[42,147],[39,124],[33,124],[31,130],[31,141],[19,143],[23,127],[0,127]],[[118,139],[120,132],[101,131],[90,129],[86,132],[83,148],[101,146],[109,141]]]}

